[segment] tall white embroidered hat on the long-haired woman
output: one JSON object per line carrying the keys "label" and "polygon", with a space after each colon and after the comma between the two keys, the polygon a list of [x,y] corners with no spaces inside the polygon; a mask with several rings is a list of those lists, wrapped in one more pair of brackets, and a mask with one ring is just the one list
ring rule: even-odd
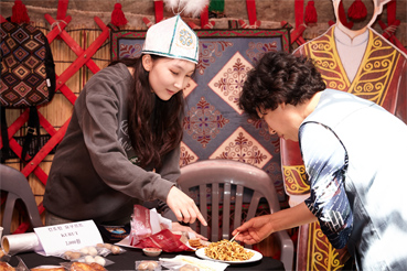
{"label": "tall white embroidered hat on the long-haired woman", "polygon": [[151,25],[142,46],[143,54],[162,55],[197,64],[199,40],[195,32],[182,21],[172,17]]}

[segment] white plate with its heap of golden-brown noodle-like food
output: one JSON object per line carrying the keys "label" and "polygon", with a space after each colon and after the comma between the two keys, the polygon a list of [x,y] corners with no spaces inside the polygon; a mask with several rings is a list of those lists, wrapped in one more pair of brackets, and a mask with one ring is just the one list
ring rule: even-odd
{"label": "white plate with its heap of golden-brown noodle-like food", "polygon": [[206,248],[200,248],[195,254],[204,260],[225,262],[229,264],[259,261],[263,254],[256,250],[244,248],[235,241],[222,240],[212,242]]}

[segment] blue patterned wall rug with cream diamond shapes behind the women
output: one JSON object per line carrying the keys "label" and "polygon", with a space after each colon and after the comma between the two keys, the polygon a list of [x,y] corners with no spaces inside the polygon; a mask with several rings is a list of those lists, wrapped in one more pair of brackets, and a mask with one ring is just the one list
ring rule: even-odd
{"label": "blue patterned wall rug with cream diamond shapes behind the women", "polygon": [[[290,51],[288,29],[196,30],[200,57],[193,82],[184,89],[185,118],[180,166],[207,159],[229,159],[266,171],[279,200],[282,186],[279,138],[264,121],[254,121],[237,105],[248,71],[266,52]],[[111,58],[137,57],[146,31],[113,30]]]}

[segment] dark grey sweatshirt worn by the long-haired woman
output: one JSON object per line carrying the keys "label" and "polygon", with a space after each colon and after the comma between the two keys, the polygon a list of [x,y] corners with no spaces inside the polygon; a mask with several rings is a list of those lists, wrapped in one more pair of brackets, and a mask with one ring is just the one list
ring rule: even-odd
{"label": "dark grey sweatshirt worn by the long-haired woman", "polygon": [[43,202],[47,212],[69,220],[106,223],[130,217],[133,204],[167,202],[180,175],[180,148],[165,155],[157,173],[131,162],[130,84],[124,64],[104,68],[87,82],[51,166]]}

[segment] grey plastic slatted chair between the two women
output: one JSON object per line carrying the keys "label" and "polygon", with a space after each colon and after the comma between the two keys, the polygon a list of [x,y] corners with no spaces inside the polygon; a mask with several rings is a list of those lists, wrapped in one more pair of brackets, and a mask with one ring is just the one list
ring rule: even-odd
{"label": "grey plastic slatted chair between the two women", "polygon": [[[256,215],[260,198],[265,198],[269,205],[270,214],[280,210],[276,188],[270,176],[263,170],[233,160],[205,160],[181,167],[181,176],[178,180],[180,188],[191,195],[191,189],[199,189],[199,207],[207,220],[207,206],[212,207],[211,241],[231,239],[231,204],[235,205],[234,225],[242,225],[244,202],[249,200],[246,220]],[[207,200],[207,189],[212,189],[212,200]],[[223,188],[223,195],[222,195]],[[250,193],[244,193],[253,191]],[[223,199],[222,199],[223,197]],[[249,199],[247,197],[250,197]],[[245,198],[245,200],[244,200]],[[233,203],[234,202],[234,203]],[[218,225],[218,207],[223,205],[222,228]],[[196,223],[191,225],[196,230]],[[222,234],[219,235],[219,230]],[[200,227],[200,234],[207,237],[207,227]],[[293,243],[287,231],[274,234],[279,242],[281,251],[280,260],[286,270],[292,270]]]}

